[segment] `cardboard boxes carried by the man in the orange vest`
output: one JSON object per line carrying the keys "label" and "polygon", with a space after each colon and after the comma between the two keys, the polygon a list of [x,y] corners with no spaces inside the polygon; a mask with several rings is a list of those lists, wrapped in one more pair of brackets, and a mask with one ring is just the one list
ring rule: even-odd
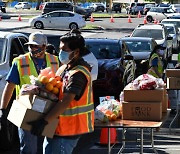
{"label": "cardboard boxes carried by the man in the orange vest", "polygon": [[[32,126],[28,122],[42,118],[55,105],[48,99],[44,99],[37,95],[22,95],[17,100],[14,100],[8,120],[17,127],[31,131]],[[58,124],[58,119],[54,119],[48,123],[42,132],[42,136],[52,138]]]}

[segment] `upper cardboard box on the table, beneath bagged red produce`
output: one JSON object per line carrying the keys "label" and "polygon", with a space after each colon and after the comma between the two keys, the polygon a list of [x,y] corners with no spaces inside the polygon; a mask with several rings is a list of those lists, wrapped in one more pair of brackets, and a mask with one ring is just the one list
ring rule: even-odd
{"label": "upper cardboard box on the table, beneath bagged red produce", "polygon": [[161,102],[163,101],[164,89],[155,90],[132,90],[124,89],[125,102]]}

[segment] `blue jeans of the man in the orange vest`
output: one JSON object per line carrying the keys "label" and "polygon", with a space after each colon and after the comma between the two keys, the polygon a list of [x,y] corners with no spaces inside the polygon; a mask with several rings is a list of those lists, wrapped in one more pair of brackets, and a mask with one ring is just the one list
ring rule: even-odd
{"label": "blue jeans of the man in the orange vest", "polygon": [[71,154],[79,138],[80,136],[76,138],[54,136],[53,139],[45,137],[43,154]]}

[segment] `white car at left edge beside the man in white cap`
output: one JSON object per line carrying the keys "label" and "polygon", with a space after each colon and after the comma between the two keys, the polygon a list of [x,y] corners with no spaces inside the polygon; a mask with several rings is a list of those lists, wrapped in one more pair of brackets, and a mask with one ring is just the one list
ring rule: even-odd
{"label": "white car at left edge beside the man in white cap", "polygon": [[22,33],[0,32],[0,98],[12,60],[28,51],[27,46],[24,45],[27,42],[28,37]]}

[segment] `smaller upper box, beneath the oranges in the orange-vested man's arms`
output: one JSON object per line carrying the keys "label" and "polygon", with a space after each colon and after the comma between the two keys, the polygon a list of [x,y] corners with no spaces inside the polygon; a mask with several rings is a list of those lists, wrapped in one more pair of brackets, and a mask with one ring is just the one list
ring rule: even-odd
{"label": "smaller upper box, beneath the oranges in the orange-vested man's arms", "polygon": [[25,105],[28,109],[41,113],[48,113],[48,111],[56,103],[37,95],[21,95],[19,96],[18,101]]}

